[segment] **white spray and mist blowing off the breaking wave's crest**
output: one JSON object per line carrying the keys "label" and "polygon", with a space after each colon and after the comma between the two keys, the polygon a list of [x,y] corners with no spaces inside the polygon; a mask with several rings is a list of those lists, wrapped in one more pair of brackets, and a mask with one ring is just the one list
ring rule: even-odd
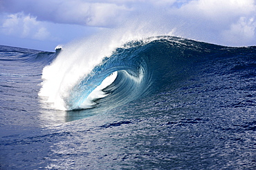
{"label": "white spray and mist blowing off the breaking wave's crest", "polygon": [[[152,32],[142,34],[140,29],[137,28],[136,30],[126,32],[123,32],[122,29],[107,30],[104,33],[101,32],[100,34],[93,35],[86,40],[74,41],[68,45],[63,45],[57,59],[51,65],[44,67],[42,73],[44,82],[42,83],[39,96],[48,98],[47,102],[52,103],[55,109],[71,109],[71,106],[67,105],[66,100],[71,95],[73,87],[79,84],[82,78],[90,74],[93,68],[102,62],[104,57],[111,56],[116,48],[123,47],[129,41],[142,39],[145,42],[149,42],[154,40],[154,38],[146,38],[149,35],[157,34]],[[83,101],[82,103],[86,102]],[[88,101],[88,103],[92,102]],[[72,107],[72,109],[74,108]],[[76,109],[80,109],[80,107]]]}

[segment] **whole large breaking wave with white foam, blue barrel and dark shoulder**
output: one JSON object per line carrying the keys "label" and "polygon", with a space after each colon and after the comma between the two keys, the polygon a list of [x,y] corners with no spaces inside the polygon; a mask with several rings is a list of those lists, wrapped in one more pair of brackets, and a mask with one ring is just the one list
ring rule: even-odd
{"label": "whole large breaking wave with white foam, blue barrel and dark shoulder", "polygon": [[[255,50],[175,36],[154,36],[112,48],[96,46],[94,50],[89,44],[62,50],[44,68],[39,95],[46,96],[56,109],[111,109],[172,88],[175,82],[199,72],[196,68],[203,62],[234,56],[241,49]],[[102,49],[111,53],[106,55]]]}

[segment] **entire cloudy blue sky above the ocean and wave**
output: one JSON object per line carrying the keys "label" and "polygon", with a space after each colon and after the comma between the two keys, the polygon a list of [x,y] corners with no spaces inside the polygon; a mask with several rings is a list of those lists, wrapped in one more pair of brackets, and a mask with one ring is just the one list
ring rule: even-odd
{"label": "entire cloudy blue sky above the ocean and wave", "polygon": [[0,45],[54,51],[117,29],[256,45],[256,0],[0,0]]}

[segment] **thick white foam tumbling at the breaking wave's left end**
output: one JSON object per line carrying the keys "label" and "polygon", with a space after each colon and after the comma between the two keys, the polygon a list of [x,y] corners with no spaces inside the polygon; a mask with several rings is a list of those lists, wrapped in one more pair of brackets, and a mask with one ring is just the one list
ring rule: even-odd
{"label": "thick white foam tumbling at the breaking wave's left end", "polygon": [[40,96],[47,96],[56,109],[66,110],[64,98],[82,76],[89,74],[112,51],[109,43],[91,39],[63,47],[57,59],[43,70]]}

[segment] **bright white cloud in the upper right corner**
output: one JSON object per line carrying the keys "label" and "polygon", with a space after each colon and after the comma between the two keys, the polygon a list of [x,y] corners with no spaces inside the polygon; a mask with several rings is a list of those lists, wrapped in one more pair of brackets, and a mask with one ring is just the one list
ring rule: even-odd
{"label": "bright white cloud in the upper right corner", "polygon": [[205,23],[228,25],[241,16],[255,14],[256,6],[255,0],[193,0],[175,12],[187,19],[201,19]]}

